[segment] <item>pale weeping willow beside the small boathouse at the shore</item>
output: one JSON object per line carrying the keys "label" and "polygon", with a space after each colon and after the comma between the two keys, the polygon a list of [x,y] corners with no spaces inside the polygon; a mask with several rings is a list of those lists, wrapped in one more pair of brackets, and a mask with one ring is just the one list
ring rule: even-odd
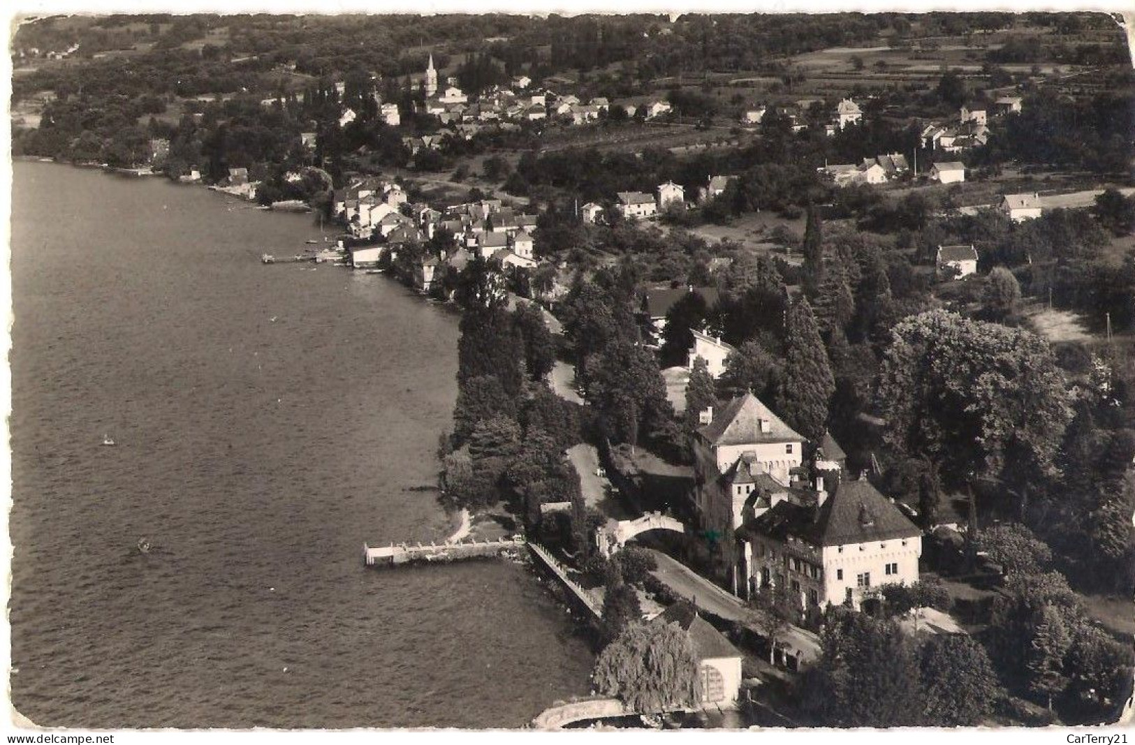
{"label": "pale weeping willow beside the small boathouse at the shore", "polygon": [[599,654],[591,677],[599,693],[642,713],[693,706],[701,696],[697,653],[678,624],[631,624]]}

